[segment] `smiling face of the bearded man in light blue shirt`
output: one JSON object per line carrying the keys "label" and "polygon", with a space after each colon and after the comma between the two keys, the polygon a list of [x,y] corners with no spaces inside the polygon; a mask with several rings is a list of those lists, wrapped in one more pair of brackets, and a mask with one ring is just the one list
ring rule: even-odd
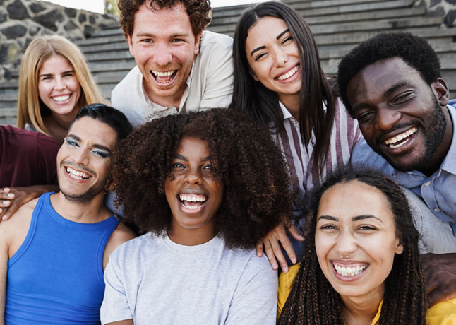
{"label": "smiling face of the bearded man in light blue shirt", "polygon": [[395,57],[356,74],[347,85],[347,97],[367,143],[393,167],[425,174],[438,169],[452,137],[443,79],[428,85],[416,69]]}

